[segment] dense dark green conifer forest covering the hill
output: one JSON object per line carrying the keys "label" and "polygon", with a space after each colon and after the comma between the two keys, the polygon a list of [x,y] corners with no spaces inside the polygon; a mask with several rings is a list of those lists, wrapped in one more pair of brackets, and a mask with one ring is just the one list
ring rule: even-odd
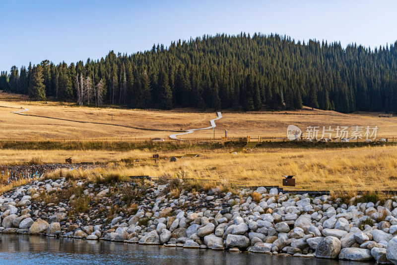
{"label": "dense dark green conifer forest covering the hill", "polygon": [[273,34],[207,35],[85,63],[13,66],[1,72],[0,89],[136,108],[397,111],[396,44],[343,48]]}

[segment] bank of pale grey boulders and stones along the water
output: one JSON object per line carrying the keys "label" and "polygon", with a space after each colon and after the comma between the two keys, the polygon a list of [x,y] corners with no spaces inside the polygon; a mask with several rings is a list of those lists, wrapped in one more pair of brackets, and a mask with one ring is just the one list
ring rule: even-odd
{"label": "bank of pale grey boulders and stones along the water", "polygon": [[34,180],[1,194],[0,232],[397,264],[396,196],[346,203],[183,181]]}

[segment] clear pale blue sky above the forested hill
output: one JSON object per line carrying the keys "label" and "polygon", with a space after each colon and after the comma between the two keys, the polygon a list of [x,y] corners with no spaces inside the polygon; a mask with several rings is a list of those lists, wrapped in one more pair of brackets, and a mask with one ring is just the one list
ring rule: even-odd
{"label": "clear pale blue sky above the forested hill", "polygon": [[203,34],[286,34],[295,40],[397,40],[395,0],[8,0],[0,3],[0,70],[134,53]]}

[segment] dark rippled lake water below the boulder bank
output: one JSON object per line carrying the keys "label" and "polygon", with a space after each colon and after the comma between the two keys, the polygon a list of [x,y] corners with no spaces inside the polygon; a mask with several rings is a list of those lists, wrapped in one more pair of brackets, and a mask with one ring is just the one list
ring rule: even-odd
{"label": "dark rippled lake water below the boulder bank", "polygon": [[[0,234],[0,264],[7,265],[359,265],[336,260],[188,250],[44,236]],[[370,263],[371,264],[371,263]]]}

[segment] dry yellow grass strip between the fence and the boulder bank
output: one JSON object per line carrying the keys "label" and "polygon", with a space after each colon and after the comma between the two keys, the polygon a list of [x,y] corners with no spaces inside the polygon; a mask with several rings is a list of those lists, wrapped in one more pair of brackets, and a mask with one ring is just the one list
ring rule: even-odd
{"label": "dry yellow grass strip between the fence and the boulder bank", "polygon": [[[123,176],[176,177],[181,170],[189,177],[219,183],[244,185],[281,185],[282,175],[296,175],[297,186],[309,190],[397,190],[397,147],[378,146],[340,149],[270,149],[233,155],[231,150],[194,150],[198,158],[183,158],[176,163],[160,160],[144,162],[116,172]],[[29,155],[26,155],[29,154]],[[150,158],[151,152],[107,151],[19,151],[3,150],[0,161],[28,162],[33,155],[44,162],[62,162],[66,154],[76,161],[106,162],[109,159]],[[160,152],[160,157],[184,155],[185,152]],[[139,163],[138,163],[139,164]],[[110,172],[115,174],[115,171]]]}

